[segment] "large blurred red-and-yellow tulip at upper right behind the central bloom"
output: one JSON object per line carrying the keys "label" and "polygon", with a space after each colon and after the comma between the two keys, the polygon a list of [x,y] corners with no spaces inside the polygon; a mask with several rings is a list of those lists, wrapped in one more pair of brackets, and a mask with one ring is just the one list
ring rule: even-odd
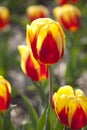
{"label": "large blurred red-and-yellow tulip at upper right behind the central bloom", "polygon": [[53,9],[53,15],[67,30],[74,32],[80,27],[80,10],[70,4]]}

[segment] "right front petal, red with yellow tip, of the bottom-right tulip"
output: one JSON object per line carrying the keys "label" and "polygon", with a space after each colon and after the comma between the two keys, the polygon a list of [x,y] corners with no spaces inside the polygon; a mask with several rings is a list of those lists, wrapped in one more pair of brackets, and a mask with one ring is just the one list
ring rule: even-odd
{"label": "right front petal, red with yellow tip, of the bottom-right tulip", "polygon": [[70,127],[71,128],[77,128],[80,129],[84,127],[87,123],[87,117],[86,113],[84,112],[83,108],[80,106],[78,102],[72,102],[70,104],[70,111],[69,115],[71,115],[72,118],[70,121]]}

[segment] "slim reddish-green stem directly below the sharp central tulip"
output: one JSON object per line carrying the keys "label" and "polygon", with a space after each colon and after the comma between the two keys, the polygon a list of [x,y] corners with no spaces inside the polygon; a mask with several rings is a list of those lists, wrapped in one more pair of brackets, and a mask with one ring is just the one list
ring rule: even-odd
{"label": "slim reddish-green stem directly below the sharp central tulip", "polygon": [[49,66],[49,103],[52,105],[52,96],[53,96],[53,85],[52,85],[52,68]]}

